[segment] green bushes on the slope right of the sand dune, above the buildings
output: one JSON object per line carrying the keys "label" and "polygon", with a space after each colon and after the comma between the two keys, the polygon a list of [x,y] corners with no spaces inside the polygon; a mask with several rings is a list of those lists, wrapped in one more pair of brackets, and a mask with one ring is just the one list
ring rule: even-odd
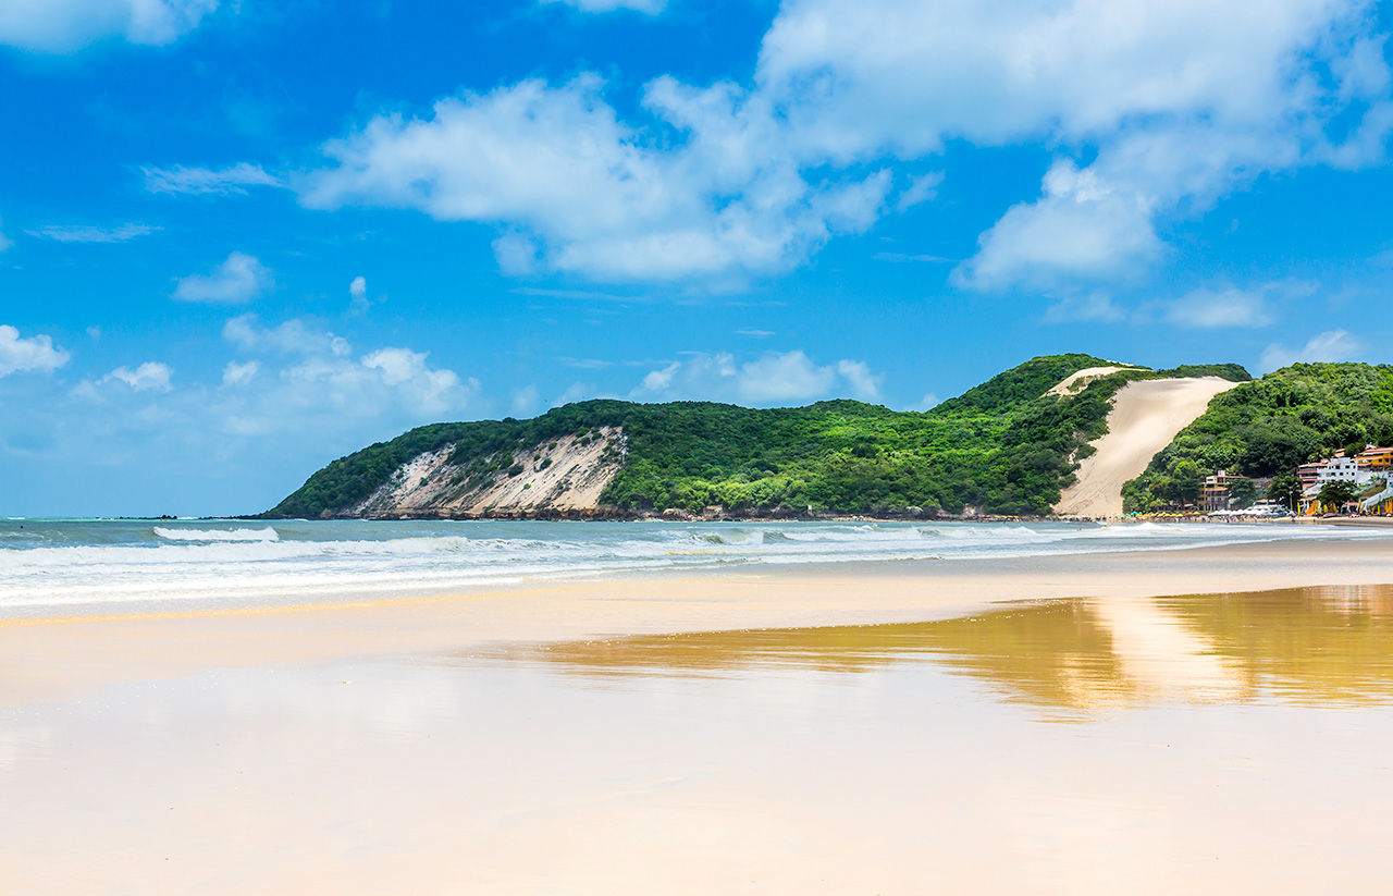
{"label": "green bushes on the slope right of the sand dune, above the buildings", "polygon": [[1341,449],[1390,443],[1393,368],[1294,364],[1217,396],[1123,488],[1123,499],[1127,510],[1183,504],[1195,481],[1217,470],[1273,477]]}

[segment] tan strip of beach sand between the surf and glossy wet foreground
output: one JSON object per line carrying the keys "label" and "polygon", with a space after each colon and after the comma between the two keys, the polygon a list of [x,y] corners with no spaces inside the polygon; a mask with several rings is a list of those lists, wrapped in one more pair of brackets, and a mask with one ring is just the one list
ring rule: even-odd
{"label": "tan strip of beach sand between the surf and glossy wet foreground", "polygon": [[1382,539],[837,563],[525,584],[449,596],[0,621],[0,706],[226,667],[483,645],[963,617],[993,605],[1393,585]]}

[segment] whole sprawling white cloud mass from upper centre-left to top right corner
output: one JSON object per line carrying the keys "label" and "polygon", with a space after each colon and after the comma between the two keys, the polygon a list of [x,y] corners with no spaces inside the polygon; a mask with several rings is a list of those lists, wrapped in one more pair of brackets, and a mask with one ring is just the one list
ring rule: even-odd
{"label": "whole sprawling white cloud mass from upper centre-left to top right corner", "polygon": [[446,98],[330,141],[297,188],[313,208],[495,224],[508,273],[660,281],[784,270],[926,202],[939,174],[897,194],[893,169],[950,141],[1043,144],[1067,157],[956,279],[1064,290],[1145,270],[1166,226],[1265,171],[1382,157],[1393,79],[1372,10],[787,0],[749,85],[660,77],[627,117],[595,75]]}

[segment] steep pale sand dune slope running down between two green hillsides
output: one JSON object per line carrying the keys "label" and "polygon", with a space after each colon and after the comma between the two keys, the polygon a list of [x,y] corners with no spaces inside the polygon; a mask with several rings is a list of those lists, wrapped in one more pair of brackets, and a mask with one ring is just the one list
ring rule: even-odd
{"label": "steep pale sand dune slope running down between two green hillsides", "polygon": [[1116,517],[1123,513],[1123,484],[1146,468],[1209,407],[1216,394],[1238,383],[1217,376],[1146,379],[1117,390],[1107,414],[1107,435],[1094,442],[1096,453],[1078,467],[1055,513],[1068,517]]}

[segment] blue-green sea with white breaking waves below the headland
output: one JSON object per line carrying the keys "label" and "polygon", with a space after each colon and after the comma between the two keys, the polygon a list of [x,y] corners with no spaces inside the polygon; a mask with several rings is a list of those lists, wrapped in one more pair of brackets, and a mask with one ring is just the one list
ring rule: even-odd
{"label": "blue-green sea with white breaking waves below the headland", "polygon": [[645,573],[1173,550],[1393,530],[1272,524],[0,520],[0,617],[237,609]]}

